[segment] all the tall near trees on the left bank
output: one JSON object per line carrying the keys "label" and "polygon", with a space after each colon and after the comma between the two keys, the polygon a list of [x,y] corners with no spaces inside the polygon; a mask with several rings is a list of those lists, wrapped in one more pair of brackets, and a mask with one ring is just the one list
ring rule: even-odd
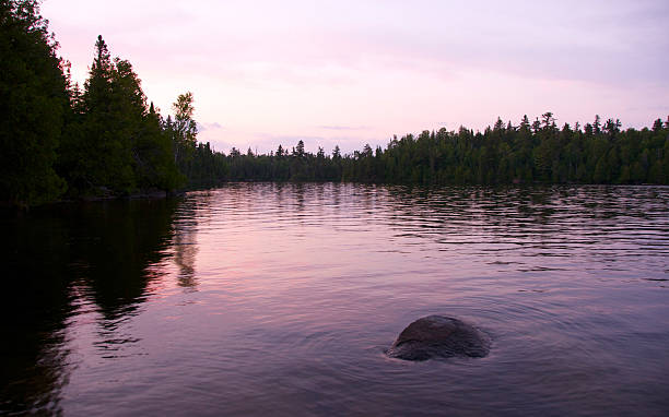
{"label": "all the tall near trees on the left bank", "polygon": [[36,0],[0,0],[0,202],[30,206],[69,198],[210,186],[224,156],[198,144],[191,93],[174,121],[148,105],[132,64],[102,36],[83,88],[56,56]]}

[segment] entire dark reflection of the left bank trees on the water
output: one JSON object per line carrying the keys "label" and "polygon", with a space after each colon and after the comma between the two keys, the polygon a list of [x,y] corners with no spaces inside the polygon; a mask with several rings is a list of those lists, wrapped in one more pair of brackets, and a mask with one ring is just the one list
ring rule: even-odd
{"label": "entire dark reflection of the left bank trees on the water", "polygon": [[64,204],[0,216],[0,414],[61,414],[77,309],[93,302],[106,336],[134,313],[156,277],[149,267],[168,254],[176,204]]}

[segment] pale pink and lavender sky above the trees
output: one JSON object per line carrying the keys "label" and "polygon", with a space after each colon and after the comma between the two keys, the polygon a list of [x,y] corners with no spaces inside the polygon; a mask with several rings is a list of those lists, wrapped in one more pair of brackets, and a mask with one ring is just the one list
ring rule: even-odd
{"label": "pale pink and lavender sky above the trees", "polygon": [[423,130],[669,115],[669,1],[45,0],[80,83],[97,35],[201,142],[345,153]]}

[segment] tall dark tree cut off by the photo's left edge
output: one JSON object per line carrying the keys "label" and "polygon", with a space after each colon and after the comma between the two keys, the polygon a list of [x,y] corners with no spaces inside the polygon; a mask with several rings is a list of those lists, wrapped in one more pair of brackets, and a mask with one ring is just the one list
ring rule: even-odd
{"label": "tall dark tree cut off by the photo's left edge", "polygon": [[67,107],[63,62],[37,1],[0,1],[0,201],[54,200],[54,170]]}

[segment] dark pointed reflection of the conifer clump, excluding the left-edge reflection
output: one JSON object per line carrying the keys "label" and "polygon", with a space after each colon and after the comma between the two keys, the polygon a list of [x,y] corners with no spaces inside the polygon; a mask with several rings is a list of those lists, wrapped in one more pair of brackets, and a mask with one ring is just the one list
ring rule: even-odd
{"label": "dark pointed reflection of the conifer clump, excluding the left-edge reflection", "polygon": [[72,228],[77,275],[91,288],[104,318],[132,313],[155,278],[146,270],[167,257],[176,202],[144,200],[80,207]]}

